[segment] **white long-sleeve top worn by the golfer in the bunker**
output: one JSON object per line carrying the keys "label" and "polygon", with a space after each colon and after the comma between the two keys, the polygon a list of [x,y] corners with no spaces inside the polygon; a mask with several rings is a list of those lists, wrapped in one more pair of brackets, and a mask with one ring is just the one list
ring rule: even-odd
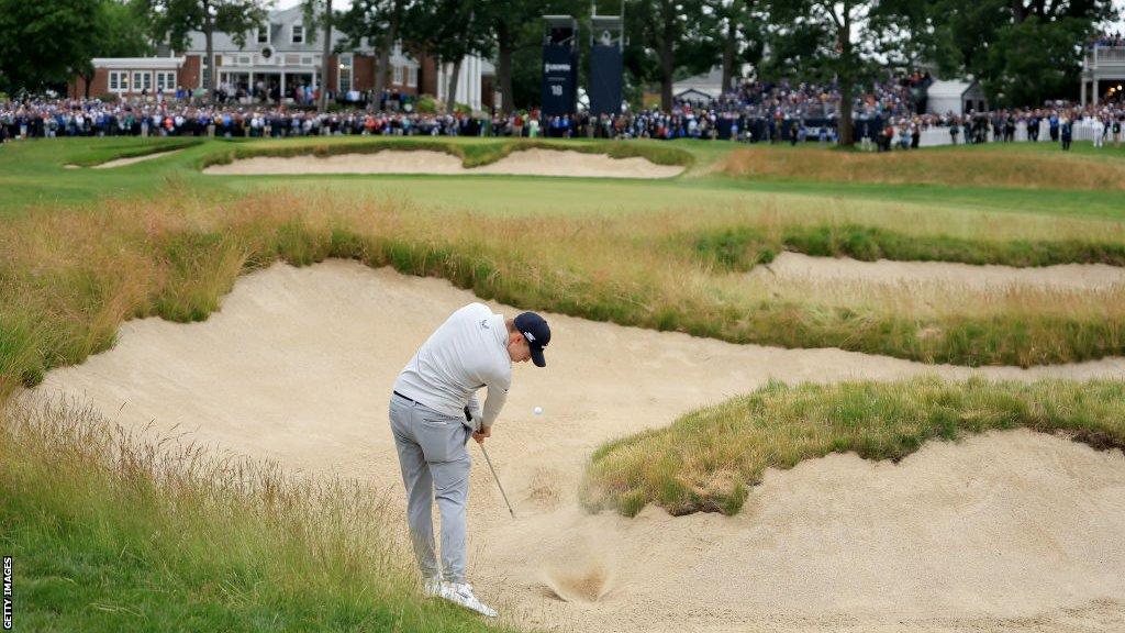
{"label": "white long-sleeve top worn by the golfer in the bunker", "polygon": [[[507,326],[483,303],[453,312],[395,381],[395,391],[442,413],[460,418],[468,405],[474,430],[496,421],[511,386]],[[488,387],[483,411],[475,395],[480,387]]]}

